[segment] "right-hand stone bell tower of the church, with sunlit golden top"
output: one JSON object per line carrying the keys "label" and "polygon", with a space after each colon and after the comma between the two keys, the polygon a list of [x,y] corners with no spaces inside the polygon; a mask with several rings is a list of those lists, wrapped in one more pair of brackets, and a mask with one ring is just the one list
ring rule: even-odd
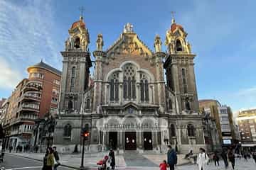
{"label": "right-hand stone bell tower of the church, with sunlit golden top", "polygon": [[188,34],[181,25],[171,20],[171,28],[166,31],[165,45],[167,55],[166,69],[167,88],[176,96],[176,112],[198,113],[198,94],[191,45],[186,40]]}

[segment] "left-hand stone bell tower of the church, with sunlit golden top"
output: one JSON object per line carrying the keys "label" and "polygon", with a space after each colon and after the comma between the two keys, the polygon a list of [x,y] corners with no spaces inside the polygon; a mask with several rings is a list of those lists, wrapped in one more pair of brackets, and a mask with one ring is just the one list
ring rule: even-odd
{"label": "left-hand stone bell tower of the church, with sunlit golden top", "polygon": [[89,69],[92,67],[88,45],[90,36],[82,16],[68,30],[65,41],[63,72],[60,90],[60,114],[79,113],[82,94],[88,87]]}

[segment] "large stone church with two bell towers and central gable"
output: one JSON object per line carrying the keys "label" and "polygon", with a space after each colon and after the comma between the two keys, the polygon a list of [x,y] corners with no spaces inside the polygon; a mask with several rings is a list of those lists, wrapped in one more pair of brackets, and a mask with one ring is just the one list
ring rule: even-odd
{"label": "large stone church with two bell towers and central gable", "polygon": [[[127,23],[119,38],[102,50],[88,50],[90,30],[83,18],[68,30],[63,55],[54,145],[73,152],[90,130],[87,152],[161,153],[166,145],[187,153],[205,147],[191,45],[174,18],[166,31],[167,52],[156,35],[149,49]],[[93,79],[91,55],[95,57]],[[165,74],[164,74],[165,73]]]}

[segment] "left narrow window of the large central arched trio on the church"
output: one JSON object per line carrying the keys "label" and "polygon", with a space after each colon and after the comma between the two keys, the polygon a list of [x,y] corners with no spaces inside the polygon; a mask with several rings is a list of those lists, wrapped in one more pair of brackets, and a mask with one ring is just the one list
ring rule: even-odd
{"label": "left narrow window of the large central arched trio on the church", "polygon": [[110,77],[110,101],[119,101],[119,73]]}

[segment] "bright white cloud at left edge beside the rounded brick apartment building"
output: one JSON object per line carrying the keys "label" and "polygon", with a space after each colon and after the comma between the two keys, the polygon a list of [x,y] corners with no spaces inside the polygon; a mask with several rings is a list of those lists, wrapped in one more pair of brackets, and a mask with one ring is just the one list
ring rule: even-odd
{"label": "bright white cloud at left edge beside the rounded brick apartment building", "polygon": [[13,89],[22,79],[20,72],[4,60],[1,60],[0,70],[0,89]]}

